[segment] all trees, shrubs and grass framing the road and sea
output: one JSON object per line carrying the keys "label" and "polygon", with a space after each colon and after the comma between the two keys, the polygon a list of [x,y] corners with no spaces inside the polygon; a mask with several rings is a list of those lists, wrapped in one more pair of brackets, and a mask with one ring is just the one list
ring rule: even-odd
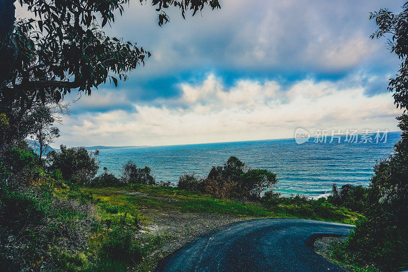
{"label": "all trees, shrubs and grass framing the road and sea", "polygon": [[[0,3],[0,270],[125,271],[144,269],[148,255],[168,239],[142,235],[149,218],[144,208],[237,217],[300,217],[353,224],[333,256],[354,267],[408,268],[408,117],[398,117],[401,140],[395,154],[374,168],[369,188],[344,185],[327,199],[282,197],[273,191],[276,175],[249,169],[236,157],[214,166],[206,179],[180,177],[179,187],[157,186],[150,168],[129,161],[120,179],[99,169],[97,151],[67,148],[42,155],[59,136],[53,127],[64,112],[63,96],[78,88],[91,93],[109,79],[115,86],[144,64],[150,53],[136,44],[105,35],[128,0],[20,0],[36,16],[15,20],[13,1]],[[103,4],[103,5],[101,5]],[[217,0],[154,0],[159,25],[170,6],[183,17]],[[389,90],[406,110],[408,92],[408,4],[398,15],[371,14],[378,30],[391,34],[390,49],[402,60]],[[101,25],[98,19],[101,16]],[[114,77],[114,75],[117,75]],[[54,110],[56,107],[58,110]],[[24,139],[39,141],[37,155]],[[110,186],[110,187],[107,187]],[[362,213],[364,216],[362,216]]]}

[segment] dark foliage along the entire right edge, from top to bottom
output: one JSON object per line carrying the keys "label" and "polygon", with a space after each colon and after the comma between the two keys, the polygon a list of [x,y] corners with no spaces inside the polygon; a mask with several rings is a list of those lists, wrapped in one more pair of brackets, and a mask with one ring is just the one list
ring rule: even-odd
{"label": "dark foliage along the entire right edge, from top to bottom", "polygon": [[402,8],[399,14],[387,9],[370,13],[378,26],[370,37],[391,35],[389,49],[401,60],[398,75],[390,79],[388,87],[397,108],[404,109],[404,114],[397,117],[401,140],[394,145],[393,155],[375,165],[365,219],[335,251],[342,261],[387,271],[408,268],[408,2]]}

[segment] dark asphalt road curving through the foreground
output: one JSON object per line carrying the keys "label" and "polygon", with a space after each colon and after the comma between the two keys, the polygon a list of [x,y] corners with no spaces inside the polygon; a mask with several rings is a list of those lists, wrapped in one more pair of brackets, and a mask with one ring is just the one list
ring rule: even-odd
{"label": "dark asphalt road curving through the foreground", "polygon": [[167,256],[157,271],[343,271],[315,253],[319,236],[352,225],[306,219],[254,219],[207,233]]}

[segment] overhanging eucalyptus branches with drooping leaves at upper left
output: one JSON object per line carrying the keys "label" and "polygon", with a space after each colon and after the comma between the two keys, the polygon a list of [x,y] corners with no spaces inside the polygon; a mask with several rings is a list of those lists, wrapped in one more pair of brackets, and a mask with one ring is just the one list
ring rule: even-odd
{"label": "overhanging eucalyptus branches with drooping leaves at upper left", "polygon": [[[150,53],[136,43],[105,35],[103,28],[122,14],[129,0],[18,0],[35,17],[16,20],[15,0],[0,4],[0,109],[21,113],[41,102],[58,103],[72,89],[91,94],[109,79],[115,86],[127,72],[144,64]],[[143,0],[140,0],[143,3]],[[218,0],[152,0],[158,23],[169,21],[174,6],[182,16],[205,6],[220,8]],[[99,19],[101,23],[99,24]],[[117,75],[114,77],[113,74]]]}

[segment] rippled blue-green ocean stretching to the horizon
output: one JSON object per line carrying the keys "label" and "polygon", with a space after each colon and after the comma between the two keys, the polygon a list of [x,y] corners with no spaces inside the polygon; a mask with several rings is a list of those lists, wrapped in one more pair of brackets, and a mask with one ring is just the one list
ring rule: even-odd
{"label": "rippled blue-green ocean stretching to the horizon", "polygon": [[99,171],[106,166],[119,177],[123,164],[132,160],[150,167],[156,181],[177,184],[183,174],[206,178],[212,166],[236,156],[250,168],[275,172],[276,191],[283,195],[319,197],[329,194],[334,183],[367,186],[376,161],[393,154],[399,139],[400,132],[392,132],[379,143],[347,142],[342,136],[340,143],[310,138],[297,144],[292,138],[106,149],[99,151]]}

